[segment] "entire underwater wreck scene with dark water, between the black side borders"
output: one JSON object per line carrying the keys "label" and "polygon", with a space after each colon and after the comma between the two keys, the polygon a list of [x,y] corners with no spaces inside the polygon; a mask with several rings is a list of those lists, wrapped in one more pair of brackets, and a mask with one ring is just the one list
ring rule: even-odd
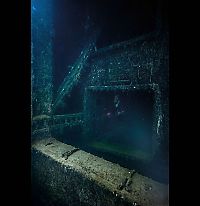
{"label": "entire underwater wreck scene with dark water, between the black side borders", "polygon": [[169,205],[167,0],[32,0],[32,205]]}

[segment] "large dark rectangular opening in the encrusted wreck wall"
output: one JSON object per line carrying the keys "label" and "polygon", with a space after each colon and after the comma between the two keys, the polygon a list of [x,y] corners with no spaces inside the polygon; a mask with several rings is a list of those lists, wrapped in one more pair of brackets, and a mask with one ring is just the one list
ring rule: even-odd
{"label": "large dark rectangular opening in the encrusted wreck wall", "polygon": [[158,100],[155,85],[88,87],[86,150],[119,160],[151,161],[158,145]]}

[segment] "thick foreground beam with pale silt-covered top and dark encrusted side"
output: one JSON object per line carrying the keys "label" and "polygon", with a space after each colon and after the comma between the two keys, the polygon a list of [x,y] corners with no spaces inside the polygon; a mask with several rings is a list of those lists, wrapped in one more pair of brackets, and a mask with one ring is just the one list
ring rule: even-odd
{"label": "thick foreground beam with pale silt-covered top and dark encrusted side", "polygon": [[167,206],[168,185],[54,138],[32,145],[32,182],[47,205]]}

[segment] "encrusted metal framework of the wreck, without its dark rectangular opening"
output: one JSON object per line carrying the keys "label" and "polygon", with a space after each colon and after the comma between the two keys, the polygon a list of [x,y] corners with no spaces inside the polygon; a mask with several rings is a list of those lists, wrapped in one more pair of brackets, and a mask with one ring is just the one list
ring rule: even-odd
{"label": "encrusted metal framework of the wreck, without its dark rectangular opening", "polygon": [[[35,10],[32,15],[32,178],[33,186],[45,197],[44,205],[168,205],[167,185],[74,145],[63,144],[58,141],[62,138],[59,139],[61,133],[57,132],[63,128],[74,131],[81,128],[80,140],[92,138],[95,132],[101,130],[101,127],[92,126],[94,122],[98,125],[101,121],[100,116],[95,114],[97,95],[103,92],[148,91],[153,97],[151,159],[163,148],[167,153],[167,33],[152,32],[99,50],[95,49],[94,35],[71,71],[63,77],[64,81],[53,101],[52,2],[41,2],[46,3],[43,13]],[[46,40],[41,42],[43,39]],[[37,44],[41,47],[36,47]],[[86,70],[86,76],[81,78]],[[83,110],[73,114],[56,114],[59,104],[67,107],[64,97],[80,84],[84,85],[80,93]],[[64,136],[69,138],[69,134]],[[141,161],[140,158],[138,160]]]}

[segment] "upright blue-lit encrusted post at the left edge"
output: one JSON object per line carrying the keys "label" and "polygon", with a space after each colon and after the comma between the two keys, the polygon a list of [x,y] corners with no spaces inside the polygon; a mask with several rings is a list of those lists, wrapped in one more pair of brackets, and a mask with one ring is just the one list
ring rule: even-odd
{"label": "upright blue-lit encrusted post at the left edge", "polygon": [[53,71],[52,0],[31,1],[32,116],[51,115]]}

